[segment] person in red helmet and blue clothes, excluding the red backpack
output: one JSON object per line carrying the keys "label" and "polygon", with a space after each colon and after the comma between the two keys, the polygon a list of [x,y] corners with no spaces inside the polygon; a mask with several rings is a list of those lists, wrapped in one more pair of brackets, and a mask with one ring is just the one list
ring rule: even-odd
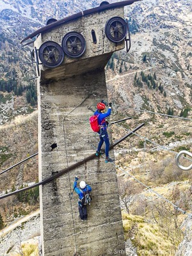
{"label": "person in red helmet and blue clothes, excluding the red backpack", "polygon": [[111,159],[109,157],[109,145],[110,145],[110,143],[109,143],[109,136],[108,136],[108,131],[107,131],[109,123],[108,123],[108,121],[106,121],[106,117],[111,115],[111,105],[112,105],[112,103],[110,102],[108,111],[107,111],[107,113],[105,113],[106,104],[104,104],[104,100],[102,100],[101,102],[99,102],[97,104],[97,110],[94,113],[94,115],[98,115],[97,120],[98,120],[98,124],[100,126],[100,130],[99,130],[99,132],[97,132],[99,134],[100,141],[99,141],[99,145],[98,145],[98,148],[97,148],[97,151],[96,151],[96,156],[100,155],[100,149],[102,147],[102,144],[105,142],[105,144],[106,144],[106,148],[105,148],[106,161],[105,162],[106,163],[114,161],[114,159]]}

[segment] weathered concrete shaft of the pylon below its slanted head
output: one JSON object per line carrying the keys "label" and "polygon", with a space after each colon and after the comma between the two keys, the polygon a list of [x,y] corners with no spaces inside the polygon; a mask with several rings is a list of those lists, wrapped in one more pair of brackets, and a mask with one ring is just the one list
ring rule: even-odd
{"label": "weathered concrete shaft of the pylon below its slanted head", "polygon": [[[90,92],[99,96],[90,95],[83,102]],[[94,108],[100,99],[107,99],[104,70],[83,79],[40,84],[40,94],[40,168],[45,179],[95,152],[99,138],[90,129],[88,106]],[[51,151],[52,143],[58,147]],[[87,223],[79,221],[77,196],[72,201],[68,196],[76,175],[93,188]],[[73,255],[76,247],[81,255],[107,255],[108,248],[124,250],[115,167],[103,158],[95,159],[43,186],[42,221],[45,255]]]}

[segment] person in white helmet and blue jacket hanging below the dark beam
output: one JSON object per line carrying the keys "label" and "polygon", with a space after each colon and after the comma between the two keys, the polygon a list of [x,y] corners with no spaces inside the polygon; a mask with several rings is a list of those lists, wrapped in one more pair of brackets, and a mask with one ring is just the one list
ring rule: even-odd
{"label": "person in white helmet and blue jacket hanging below the dark beam", "polygon": [[92,191],[92,188],[90,185],[86,184],[84,180],[81,180],[79,183],[79,188],[77,187],[77,180],[79,178],[76,177],[76,180],[74,181],[74,191],[79,196],[78,199],[78,208],[79,208],[79,217],[81,221],[86,221],[88,214],[87,214],[87,208],[86,206],[90,204],[92,197],[90,195],[90,192]]}

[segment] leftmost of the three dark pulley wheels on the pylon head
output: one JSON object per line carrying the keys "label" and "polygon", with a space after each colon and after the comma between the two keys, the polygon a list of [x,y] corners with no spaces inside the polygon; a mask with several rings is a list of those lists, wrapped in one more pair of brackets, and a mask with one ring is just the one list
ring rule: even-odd
{"label": "leftmost of the three dark pulley wheels on the pylon head", "polygon": [[64,60],[64,52],[59,44],[47,41],[40,46],[38,56],[46,67],[58,67]]}

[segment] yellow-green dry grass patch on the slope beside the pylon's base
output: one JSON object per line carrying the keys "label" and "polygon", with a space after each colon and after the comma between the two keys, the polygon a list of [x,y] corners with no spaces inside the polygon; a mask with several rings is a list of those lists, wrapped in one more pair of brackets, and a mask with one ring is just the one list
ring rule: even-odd
{"label": "yellow-green dry grass patch on the slope beside the pylon's base", "polygon": [[[138,248],[138,256],[142,255],[175,255],[175,249],[182,240],[180,232],[167,230],[156,223],[147,223],[145,218],[122,212],[125,239],[131,238]],[[173,239],[173,236],[174,239]]]}

